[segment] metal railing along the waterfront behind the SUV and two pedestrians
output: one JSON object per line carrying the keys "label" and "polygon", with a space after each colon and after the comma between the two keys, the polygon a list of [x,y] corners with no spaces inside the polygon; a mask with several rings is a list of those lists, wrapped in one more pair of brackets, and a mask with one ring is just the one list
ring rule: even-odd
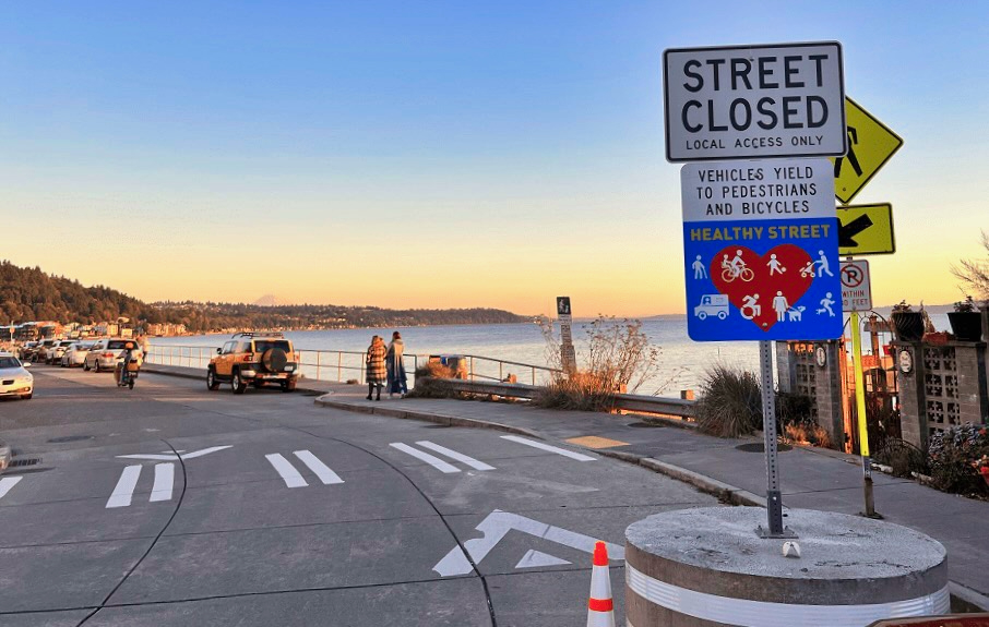
{"label": "metal railing along the waterfront behind the SUV and two pedestrians", "polygon": [[[367,381],[367,364],[364,351],[349,350],[303,350],[298,349],[299,371],[306,378],[325,382],[345,383]],[[187,345],[148,345],[147,362],[158,365],[177,365],[205,370],[210,359],[216,355],[214,346]],[[413,387],[415,372],[426,364],[430,357],[426,354],[405,353],[405,371],[408,373],[408,385]],[[514,375],[519,382],[531,385],[549,383],[560,371],[531,363],[521,363],[477,354],[444,355],[463,360],[461,376],[468,381],[502,382]]]}

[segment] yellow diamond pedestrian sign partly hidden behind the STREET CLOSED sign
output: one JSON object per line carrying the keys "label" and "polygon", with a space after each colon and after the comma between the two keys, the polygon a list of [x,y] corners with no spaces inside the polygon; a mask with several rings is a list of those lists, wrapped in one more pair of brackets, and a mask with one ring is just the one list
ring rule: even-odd
{"label": "yellow diamond pedestrian sign partly hidden behind the STREET CLOSED sign", "polygon": [[899,149],[903,138],[847,97],[845,124],[848,128],[848,152],[842,157],[834,157],[832,162],[834,195],[847,204]]}

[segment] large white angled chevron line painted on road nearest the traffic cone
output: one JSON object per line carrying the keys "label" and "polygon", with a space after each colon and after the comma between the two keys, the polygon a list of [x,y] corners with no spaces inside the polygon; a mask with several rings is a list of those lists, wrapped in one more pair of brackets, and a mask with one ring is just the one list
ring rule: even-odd
{"label": "large white angled chevron line painted on road nearest the traffic cone", "polygon": [[[541,538],[543,540],[562,544],[563,546],[583,551],[587,554],[594,554],[594,543],[596,542],[596,540],[589,535],[575,533],[561,527],[551,527],[544,522],[539,522],[538,520],[533,520],[532,518],[526,518],[509,511],[501,511],[500,509],[496,509],[489,514],[487,518],[480,521],[480,524],[478,524],[476,529],[484,533],[484,536],[464,542],[464,548],[467,550],[467,554],[470,555],[470,559],[474,560],[474,564],[478,565],[487,557],[488,553],[490,553],[491,550],[508,535],[509,531],[512,531],[513,529],[515,531],[528,533],[529,535],[535,535],[536,538]],[[625,558],[624,547],[611,543],[607,544],[608,555],[612,560]],[[474,567],[470,566],[470,560],[467,559],[467,555],[464,554],[461,547],[454,546],[445,557],[440,559],[440,562],[432,567],[432,569],[439,572],[440,577],[453,577],[456,575],[469,575],[474,570]]]}

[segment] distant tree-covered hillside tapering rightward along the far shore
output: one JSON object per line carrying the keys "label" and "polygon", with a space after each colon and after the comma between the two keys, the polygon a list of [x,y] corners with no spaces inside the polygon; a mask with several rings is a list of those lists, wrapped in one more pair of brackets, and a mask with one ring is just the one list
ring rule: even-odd
{"label": "distant tree-covered hillside tapering rightward along the far shore", "polygon": [[145,303],[117,290],[0,262],[0,323],[92,324],[126,316],[148,324],[184,324],[190,331],[305,329],[450,324],[502,324],[528,318],[496,309],[388,310],[376,306],[261,305],[215,302]]}

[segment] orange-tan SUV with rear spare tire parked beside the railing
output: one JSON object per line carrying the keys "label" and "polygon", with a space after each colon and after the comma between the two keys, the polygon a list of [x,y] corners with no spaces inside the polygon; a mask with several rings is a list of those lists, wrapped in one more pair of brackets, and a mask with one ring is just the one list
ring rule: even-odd
{"label": "orange-tan SUV with rear spare tire parked beside the railing", "polygon": [[299,379],[299,354],[291,341],[279,333],[239,333],[227,340],[206,370],[206,387],[219,388],[229,382],[234,394],[243,394],[248,385],[263,387],[277,384],[291,391]]}

